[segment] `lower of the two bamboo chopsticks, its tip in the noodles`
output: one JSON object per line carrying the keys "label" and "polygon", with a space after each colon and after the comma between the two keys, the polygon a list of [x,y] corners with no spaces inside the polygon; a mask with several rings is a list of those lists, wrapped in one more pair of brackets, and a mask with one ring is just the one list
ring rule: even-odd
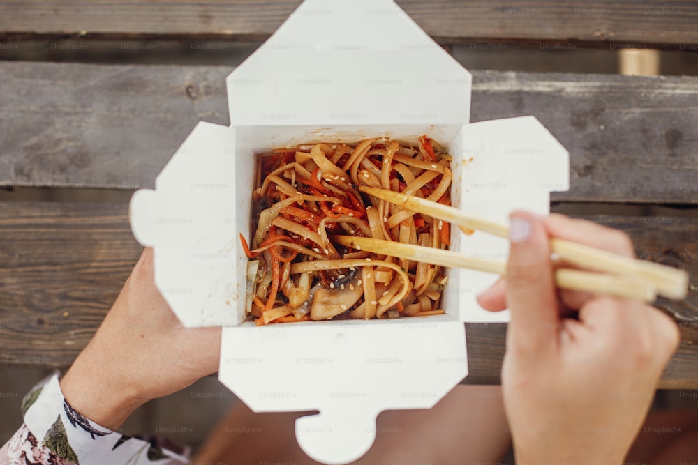
{"label": "lower of the two bamboo chopsticks, its tip in the noodles", "polygon": [[[496,273],[502,276],[506,275],[507,266],[503,261],[474,259],[466,254],[450,250],[355,236],[332,236],[332,241],[357,250],[366,250],[367,252],[399,257],[401,259],[422,261],[448,268],[467,268]],[[653,302],[657,297],[655,289],[648,286],[645,282],[629,280],[628,277],[618,275],[559,269],[555,272],[555,283],[562,289],[639,298],[645,302]]]}

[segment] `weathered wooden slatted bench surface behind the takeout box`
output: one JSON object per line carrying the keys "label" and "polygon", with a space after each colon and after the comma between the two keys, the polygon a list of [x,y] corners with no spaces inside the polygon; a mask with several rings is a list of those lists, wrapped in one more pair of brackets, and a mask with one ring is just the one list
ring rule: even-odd
{"label": "weathered wooden slatted bench surface behind the takeout box", "polygon": [[[447,48],[698,49],[695,4],[398,3]],[[298,4],[9,1],[0,4],[0,45],[250,42],[269,36]],[[197,121],[228,124],[225,76],[231,69],[0,61],[0,186],[109,189],[118,199],[15,201],[3,195],[0,365],[66,367],[89,342],[140,254],[128,225],[131,192],[153,185]],[[553,196],[554,211],[579,202],[593,203],[587,208],[592,215],[608,211],[601,203],[695,208],[698,78],[473,73],[472,121],[527,114],[570,151],[571,188]],[[688,270],[695,286],[698,219],[678,213],[590,218],[627,231],[639,257]],[[698,292],[692,287],[686,300],[657,305],[675,317],[683,339],[660,386],[698,388]],[[466,330],[465,382],[498,383],[505,325],[466,324]]]}

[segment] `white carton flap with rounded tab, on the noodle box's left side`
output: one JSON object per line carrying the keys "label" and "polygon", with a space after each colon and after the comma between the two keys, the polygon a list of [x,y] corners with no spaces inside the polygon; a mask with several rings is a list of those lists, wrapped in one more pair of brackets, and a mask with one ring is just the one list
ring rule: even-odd
{"label": "white carton flap with rounded tab, on the noodle box's left side", "polygon": [[184,326],[235,325],[244,318],[237,305],[245,294],[237,280],[234,172],[235,130],[199,123],[156,188],[131,198],[133,234],[154,247],[155,282]]}

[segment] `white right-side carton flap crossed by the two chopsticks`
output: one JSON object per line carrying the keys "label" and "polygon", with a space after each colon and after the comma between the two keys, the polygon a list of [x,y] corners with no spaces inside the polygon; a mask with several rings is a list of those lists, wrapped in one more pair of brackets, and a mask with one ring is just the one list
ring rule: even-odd
{"label": "white right-side carton flap crossed by the two chopsticks", "polygon": [[[567,150],[533,116],[483,121],[463,126],[454,140],[463,153],[454,167],[454,206],[506,223],[509,213],[526,209],[550,212],[550,192],[570,187]],[[470,257],[506,261],[509,243],[481,231],[454,234],[452,249]],[[509,321],[509,312],[487,312],[475,296],[498,279],[491,273],[451,270],[444,293],[445,307],[461,321]],[[454,311],[455,309],[455,311]]]}

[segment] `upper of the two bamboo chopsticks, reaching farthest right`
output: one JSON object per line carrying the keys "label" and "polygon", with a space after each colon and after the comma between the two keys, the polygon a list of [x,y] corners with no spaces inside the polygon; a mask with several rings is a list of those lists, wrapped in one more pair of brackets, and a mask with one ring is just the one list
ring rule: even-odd
{"label": "upper of the two bamboo chopsticks, reaching farthest right", "polygon": [[[477,229],[503,238],[509,237],[509,227],[507,225],[475,218],[452,206],[391,190],[367,186],[362,186],[359,189],[368,195],[373,195],[392,204],[404,206],[408,210],[458,224],[459,227]],[[552,252],[557,254],[560,259],[569,261],[571,264],[641,280],[657,289],[658,294],[669,298],[685,298],[688,294],[688,274],[683,270],[651,261],[620,257],[604,250],[598,250],[563,239],[554,238],[550,243]]]}

